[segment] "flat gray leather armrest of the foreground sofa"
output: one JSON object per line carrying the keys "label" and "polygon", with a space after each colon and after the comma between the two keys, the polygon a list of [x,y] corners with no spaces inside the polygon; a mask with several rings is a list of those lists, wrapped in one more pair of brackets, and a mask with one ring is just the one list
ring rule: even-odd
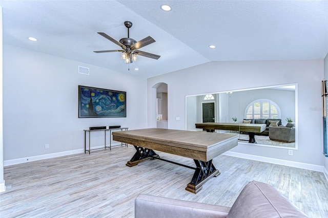
{"label": "flat gray leather armrest of the foreground sofa", "polygon": [[135,218],[226,217],[230,207],[139,194],[134,203]]}

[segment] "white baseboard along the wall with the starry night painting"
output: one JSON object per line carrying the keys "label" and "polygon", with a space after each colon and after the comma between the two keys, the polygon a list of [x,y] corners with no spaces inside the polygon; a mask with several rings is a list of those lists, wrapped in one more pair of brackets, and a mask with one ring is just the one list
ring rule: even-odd
{"label": "white baseboard along the wall with the starry night painting", "polygon": [[[120,143],[112,144],[112,146],[119,145],[119,144]],[[107,146],[109,146],[109,145],[107,145]],[[98,148],[104,148],[104,145],[91,147],[91,149],[98,149]],[[31,161],[45,160],[45,159],[49,159],[49,158],[57,158],[57,157],[67,156],[67,155],[75,155],[75,154],[80,154],[80,153],[84,153],[84,149],[61,151],[61,152],[47,154],[47,155],[38,155],[38,156],[8,160],[8,161],[4,161],[4,166],[10,166],[10,165],[15,165],[15,164],[20,164],[20,163],[27,163],[27,162],[31,162]]]}

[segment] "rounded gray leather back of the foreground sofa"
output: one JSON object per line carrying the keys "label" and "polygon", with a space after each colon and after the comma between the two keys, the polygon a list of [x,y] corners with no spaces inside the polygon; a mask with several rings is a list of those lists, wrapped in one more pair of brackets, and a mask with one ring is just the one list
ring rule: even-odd
{"label": "rounded gray leather back of the foreground sofa", "polygon": [[271,185],[250,182],[232,205],[229,217],[308,217]]}

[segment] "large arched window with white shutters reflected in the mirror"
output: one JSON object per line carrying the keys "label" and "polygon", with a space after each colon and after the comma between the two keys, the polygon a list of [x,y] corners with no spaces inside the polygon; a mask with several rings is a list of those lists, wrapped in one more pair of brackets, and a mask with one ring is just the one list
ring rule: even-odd
{"label": "large arched window with white shutters reflected in the mirror", "polygon": [[245,118],[280,118],[280,109],[278,105],[269,99],[257,99],[251,102],[245,110]]}

